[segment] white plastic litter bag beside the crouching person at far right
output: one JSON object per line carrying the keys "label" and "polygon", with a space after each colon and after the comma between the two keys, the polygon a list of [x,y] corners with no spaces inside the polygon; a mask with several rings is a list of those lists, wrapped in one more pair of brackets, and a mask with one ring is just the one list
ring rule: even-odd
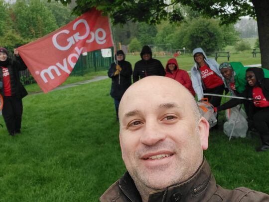
{"label": "white plastic litter bag beside the crouching person at far right", "polygon": [[[248,121],[246,112],[243,109],[240,109],[239,106],[227,109],[226,119],[227,121],[223,125],[223,132],[230,137],[233,127],[234,131],[232,137],[241,137],[245,138],[248,131]],[[234,126],[235,125],[235,126]]]}

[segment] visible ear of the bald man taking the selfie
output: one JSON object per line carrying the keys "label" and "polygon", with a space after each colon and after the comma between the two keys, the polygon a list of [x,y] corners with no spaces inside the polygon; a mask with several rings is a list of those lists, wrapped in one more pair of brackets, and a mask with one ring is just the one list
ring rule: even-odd
{"label": "visible ear of the bald man taking the selfie", "polygon": [[201,117],[198,123],[200,142],[203,150],[208,148],[209,123],[204,117]]}

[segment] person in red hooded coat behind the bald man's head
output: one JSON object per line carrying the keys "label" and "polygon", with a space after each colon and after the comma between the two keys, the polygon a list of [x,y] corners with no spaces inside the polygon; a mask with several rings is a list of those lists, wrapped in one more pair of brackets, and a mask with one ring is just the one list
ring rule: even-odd
{"label": "person in red hooded coat behind the bald man's head", "polygon": [[165,72],[166,72],[165,74],[166,77],[169,77],[178,81],[185,88],[187,88],[193,96],[195,96],[195,92],[193,90],[188,72],[183,69],[179,69],[175,58],[171,58],[167,61]]}

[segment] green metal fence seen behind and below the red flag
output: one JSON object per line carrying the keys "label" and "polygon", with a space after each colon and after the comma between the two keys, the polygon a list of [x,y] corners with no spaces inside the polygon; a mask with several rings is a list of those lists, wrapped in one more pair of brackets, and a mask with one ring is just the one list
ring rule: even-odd
{"label": "green metal fence seen behind and below the red flag", "polygon": [[[88,52],[87,55],[80,55],[71,75],[82,76],[88,72],[107,70],[114,61],[113,57],[113,48],[111,57],[103,57],[101,50]],[[28,69],[20,71],[19,75],[23,85],[36,83]]]}

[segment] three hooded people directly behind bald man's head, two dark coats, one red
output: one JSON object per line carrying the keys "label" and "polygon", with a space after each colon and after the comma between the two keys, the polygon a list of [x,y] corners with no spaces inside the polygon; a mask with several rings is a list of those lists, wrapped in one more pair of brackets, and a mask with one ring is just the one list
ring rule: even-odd
{"label": "three hooded people directly behind bald man's head, two dark coats, one red", "polygon": [[152,51],[149,46],[143,46],[140,52],[141,60],[134,65],[134,72],[130,62],[125,61],[125,53],[122,50],[117,51],[115,62],[110,65],[108,76],[112,79],[110,95],[114,98],[117,119],[121,98],[125,91],[139,79],[147,76],[166,76],[173,78],[184,85],[193,96],[195,92],[188,73],[179,69],[176,59],[171,58],[164,69],[161,62],[152,58]]}

